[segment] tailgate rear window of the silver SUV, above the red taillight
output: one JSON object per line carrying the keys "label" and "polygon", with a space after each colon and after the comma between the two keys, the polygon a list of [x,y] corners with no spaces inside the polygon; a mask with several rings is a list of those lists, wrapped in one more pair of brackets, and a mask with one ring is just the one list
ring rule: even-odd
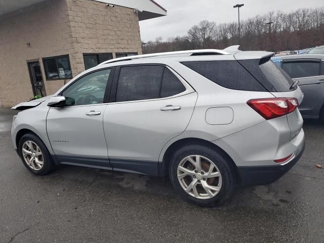
{"label": "tailgate rear window of the silver SUV, above the red taillight", "polygon": [[[288,92],[293,84],[292,78],[280,67],[275,65],[270,58],[261,60],[239,60],[269,92]],[[295,88],[297,89],[297,87]]]}

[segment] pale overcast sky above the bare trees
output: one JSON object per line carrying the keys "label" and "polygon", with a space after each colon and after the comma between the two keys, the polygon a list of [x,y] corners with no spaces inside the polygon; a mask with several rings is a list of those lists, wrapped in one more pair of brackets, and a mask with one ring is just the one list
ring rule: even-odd
{"label": "pale overcast sky above the bare trees", "polygon": [[236,4],[240,8],[240,19],[245,20],[270,11],[292,12],[299,8],[324,6],[323,0],[155,0],[168,10],[168,15],[156,19],[140,21],[142,41],[154,41],[156,37],[185,35],[188,29],[201,20],[216,23],[237,21]]}

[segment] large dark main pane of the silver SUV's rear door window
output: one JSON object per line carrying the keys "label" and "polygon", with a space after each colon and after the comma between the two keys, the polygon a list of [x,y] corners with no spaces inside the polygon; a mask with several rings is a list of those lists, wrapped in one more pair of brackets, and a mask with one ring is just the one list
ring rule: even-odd
{"label": "large dark main pane of the silver SUV's rear door window", "polygon": [[160,98],[163,66],[121,67],[116,102]]}

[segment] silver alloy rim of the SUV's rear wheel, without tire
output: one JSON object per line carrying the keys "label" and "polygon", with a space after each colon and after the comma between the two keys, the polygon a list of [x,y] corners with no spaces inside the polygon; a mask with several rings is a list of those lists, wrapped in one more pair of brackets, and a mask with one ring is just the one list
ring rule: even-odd
{"label": "silver alloy rim of the SUV's rear wheel, without tire", "polygon": [[181,187],[198,199],[213,198],[222,187],[222,175],[218,167],[201,155],[189,155],[182,159],[177,176]]}

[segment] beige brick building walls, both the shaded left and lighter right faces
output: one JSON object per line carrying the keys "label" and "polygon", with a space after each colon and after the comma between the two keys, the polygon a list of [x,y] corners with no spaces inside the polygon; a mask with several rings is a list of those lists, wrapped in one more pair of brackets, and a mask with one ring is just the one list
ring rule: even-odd
{"label": "beige brick building walls, both the shaded left and lighter right faces", "polygon": [[39,61],[50,95],[64,80],[46,80],[42,58],[69,54],[76,76],[85,70],[83,53],[115,57],[119,52],[142,53],[133,9],[92,0],[48,0],[0,16],[0,104],[13,106],[33,96],[27,61]]}

